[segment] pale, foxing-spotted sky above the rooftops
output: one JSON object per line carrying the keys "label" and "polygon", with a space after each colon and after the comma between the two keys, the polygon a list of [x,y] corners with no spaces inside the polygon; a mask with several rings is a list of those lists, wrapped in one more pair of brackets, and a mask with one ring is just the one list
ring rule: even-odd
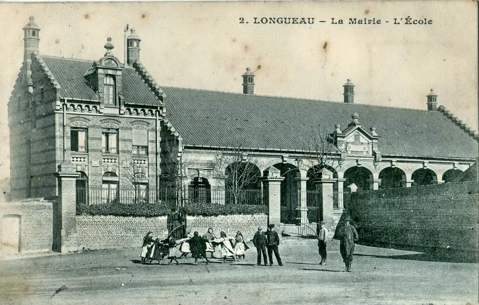
{"label": "pale, foxing-spotted sky above the rooftops", "polygon": [[[351,79],[355,103],[424,110],[433,88],[438,106],[477,132],[477,5],[465,0],[0,3],[5,55],[0,56],[5,109],[0,178],[9,175],[6,105],[22,66],[22,28],[31,15],[41,29],[41,55],[98,60],[111,37],[113,54],[123,61],[129,24],[141,39],[140,61],[160,86],[242,92],[241,74],[250,67],[258,95],[342,102],[342,85]],[[432,24],[404,24],[409,16]],[[314,23],[255,24],[254,17],[309,17]],[[332,24],[331,18],[344,24]],[[348,24],[349,18],[381,24]]]}

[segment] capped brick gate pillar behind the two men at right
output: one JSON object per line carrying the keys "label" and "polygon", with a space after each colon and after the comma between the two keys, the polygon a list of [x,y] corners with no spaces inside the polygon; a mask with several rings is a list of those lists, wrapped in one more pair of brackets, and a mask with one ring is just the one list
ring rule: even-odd
{"label": "capped brick gate pillar behind the two men at right", "polygon": [[319,192],[319,219],[323,220],[328,228],[334,227],[333,218],[333,185],[336,179],[332,178],[332,172],[328,169],[321,169],[317,175],[318,179],[313,182],[316,185],[316,191]]}

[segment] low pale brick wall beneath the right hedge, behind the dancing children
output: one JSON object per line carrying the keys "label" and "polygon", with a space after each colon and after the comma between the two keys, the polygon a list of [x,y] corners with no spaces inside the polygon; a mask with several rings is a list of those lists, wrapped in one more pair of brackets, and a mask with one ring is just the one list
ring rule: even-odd
{"label": "low pale brick wall beneath the right hedge, behind the dancing children", "polygon": [[218,215],[218,216],[186,216],[186,228],[191,232],[198,231],[200,235],[213,228],[213,232],[219,237],[219,232],[225,231],[230,237],[234,237],[237,231],[241,231],[246,240],[253,238],[258,226],[266,231],[268,215]]}

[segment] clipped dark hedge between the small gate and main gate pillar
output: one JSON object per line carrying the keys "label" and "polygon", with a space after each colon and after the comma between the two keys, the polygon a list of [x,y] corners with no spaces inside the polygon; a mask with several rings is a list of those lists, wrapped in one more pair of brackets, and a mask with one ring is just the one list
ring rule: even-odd
{"label": "clipped dark hedge between the small gate and main gate pillar", "polygon": [[266,205],[251,204],[187,203],[184,211],[190,216],[268,214]]}

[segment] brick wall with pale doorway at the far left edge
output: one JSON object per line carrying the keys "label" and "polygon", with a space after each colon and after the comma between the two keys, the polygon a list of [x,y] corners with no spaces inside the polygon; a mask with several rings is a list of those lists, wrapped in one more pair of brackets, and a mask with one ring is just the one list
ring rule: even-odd
{"label": "brick wall with pale doorway at the far left edge", "polygon": [[[0,203],[0,240],[3,241],[4,221],[8,218],[18,218],[19,228],[19,248],[20,252],[48,251],[52,249],[53,242],[53,211],[52,203],[43,201],[43,199]],[[10,235],[10,234],[9,234]],[[16,244],[15,241],[9,242]],[[3,250],[0,242],[0,250]]]}

